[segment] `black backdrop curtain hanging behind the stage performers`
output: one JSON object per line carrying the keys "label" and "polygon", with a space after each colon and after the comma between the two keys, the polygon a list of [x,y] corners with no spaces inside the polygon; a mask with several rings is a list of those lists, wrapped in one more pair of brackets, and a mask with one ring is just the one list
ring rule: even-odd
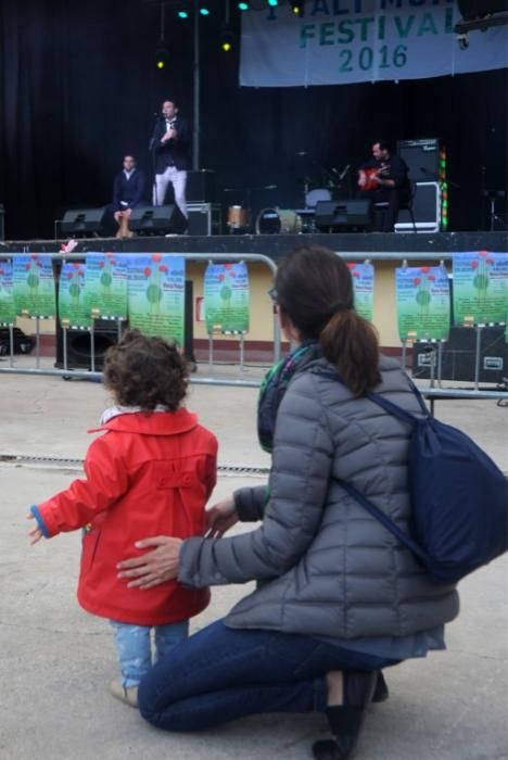
{"label": "black backdrop curtain hanging behind the stage performers", "polygon": [[[401,84],[251,89],[238,51],[219,49],[224,2],[200,20],[201,161],[225,204],[255,189],[254,210],[304,205],[302,178],[357,166],[376,138],[448,145],[450,228],[486,227],[483,189],[505,189],[506,71]],[[233,24],[239,26],[238,15]],[[480,33],[477,33],[480,34]],[[160,7],[150,0],[3,0],[0,5],[0,203],[11,239],[50,238],[67,207],[105,205],[125,153],[150,174],[162,100],[192,114],[192,21],[166,10],[169,63],[154,65]],[[471,36],[471,46],[474,38]],[[299,155],[305,152],[306,155]]]}

